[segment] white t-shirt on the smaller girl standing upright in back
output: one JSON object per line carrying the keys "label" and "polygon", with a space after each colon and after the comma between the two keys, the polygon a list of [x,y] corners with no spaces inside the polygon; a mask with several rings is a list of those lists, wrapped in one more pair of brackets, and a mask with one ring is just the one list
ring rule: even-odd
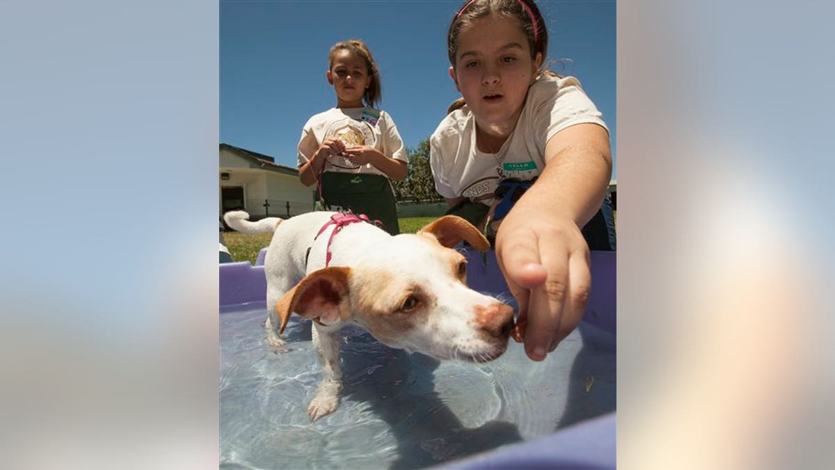
{"label": "white t-shirt on the smaller girl standing upright in back", "polygon": [[[304,165],[331,136],[339,137],[346,146],[372,146],[383,155],[407,161],[406,147],[397,133],[392,116],[373,108],[331,108],[311,117],[301,130],[299,166]],[[324,171],[374,173],[386,176],[372,164],[355,165],[342,156],[328,156]]]}

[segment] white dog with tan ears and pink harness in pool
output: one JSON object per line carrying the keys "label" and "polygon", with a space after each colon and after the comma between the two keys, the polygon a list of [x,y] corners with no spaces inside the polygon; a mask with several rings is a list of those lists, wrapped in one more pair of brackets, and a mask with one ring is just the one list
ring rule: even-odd
{"label": "white dog with tan ears and pink harness in pool", "polygon": [[395,237],[342,212],[248,218],[243,211],[224,215],[240,232],[275,231],[264,266],[267,341],[284,344],[279,335],[291,312],[313,320],[322,380],[307,409],[312,420],[339,404],[344,324],[362,326],[384,345],[440,360],[484,362],[507,349],[513,309],[468,289],[467,262],[452,249],[462,240],[489,248],[463,218],[441,217],[417,234]]}

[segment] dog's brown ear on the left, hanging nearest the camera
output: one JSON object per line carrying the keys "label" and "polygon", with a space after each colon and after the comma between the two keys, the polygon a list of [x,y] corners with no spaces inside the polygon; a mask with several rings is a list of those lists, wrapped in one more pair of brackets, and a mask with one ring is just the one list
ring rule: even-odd
{"label": "dog's brown ear on the left, hanging nearest the camera", "polygon": [[321,324],[332,324],[348,314],[348,278],[351,268],[324,268],[314,271],[301,279],[296,287],[276,302],[276,313],[281,319],[281,330],[293,312],[317,320]]}

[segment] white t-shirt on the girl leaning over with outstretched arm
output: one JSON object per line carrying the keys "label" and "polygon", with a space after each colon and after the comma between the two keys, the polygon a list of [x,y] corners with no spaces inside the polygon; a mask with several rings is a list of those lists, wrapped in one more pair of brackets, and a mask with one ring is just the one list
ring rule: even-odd
{"label": "white t-shirt on the girl leaning over with outstretched arm", "polygon": [[570,125],[603,126],[600,111],[574,77],[542,76],[528,89],[513,133],[495,154],[479,151],[475,118],[467,105],[454,110],[429,140],[435,189],[443,197],[467,197],[489,205],[504,178],[529,181],[545,167],[545,144]]}

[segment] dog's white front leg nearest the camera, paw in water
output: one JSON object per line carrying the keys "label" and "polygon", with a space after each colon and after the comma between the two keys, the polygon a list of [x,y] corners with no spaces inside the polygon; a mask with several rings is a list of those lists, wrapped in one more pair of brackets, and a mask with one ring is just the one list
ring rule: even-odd
{"label": "dog's white front leg nearest the camera, paw in water", "polygon": [[342,391],[339,331],[323,331],[320,328],[319,324],[313,324],[313,346],[321,365],[321,383],[316,389],[316,396],[307,407],[307,414],[313,421],[337,411],[339,392]]}

